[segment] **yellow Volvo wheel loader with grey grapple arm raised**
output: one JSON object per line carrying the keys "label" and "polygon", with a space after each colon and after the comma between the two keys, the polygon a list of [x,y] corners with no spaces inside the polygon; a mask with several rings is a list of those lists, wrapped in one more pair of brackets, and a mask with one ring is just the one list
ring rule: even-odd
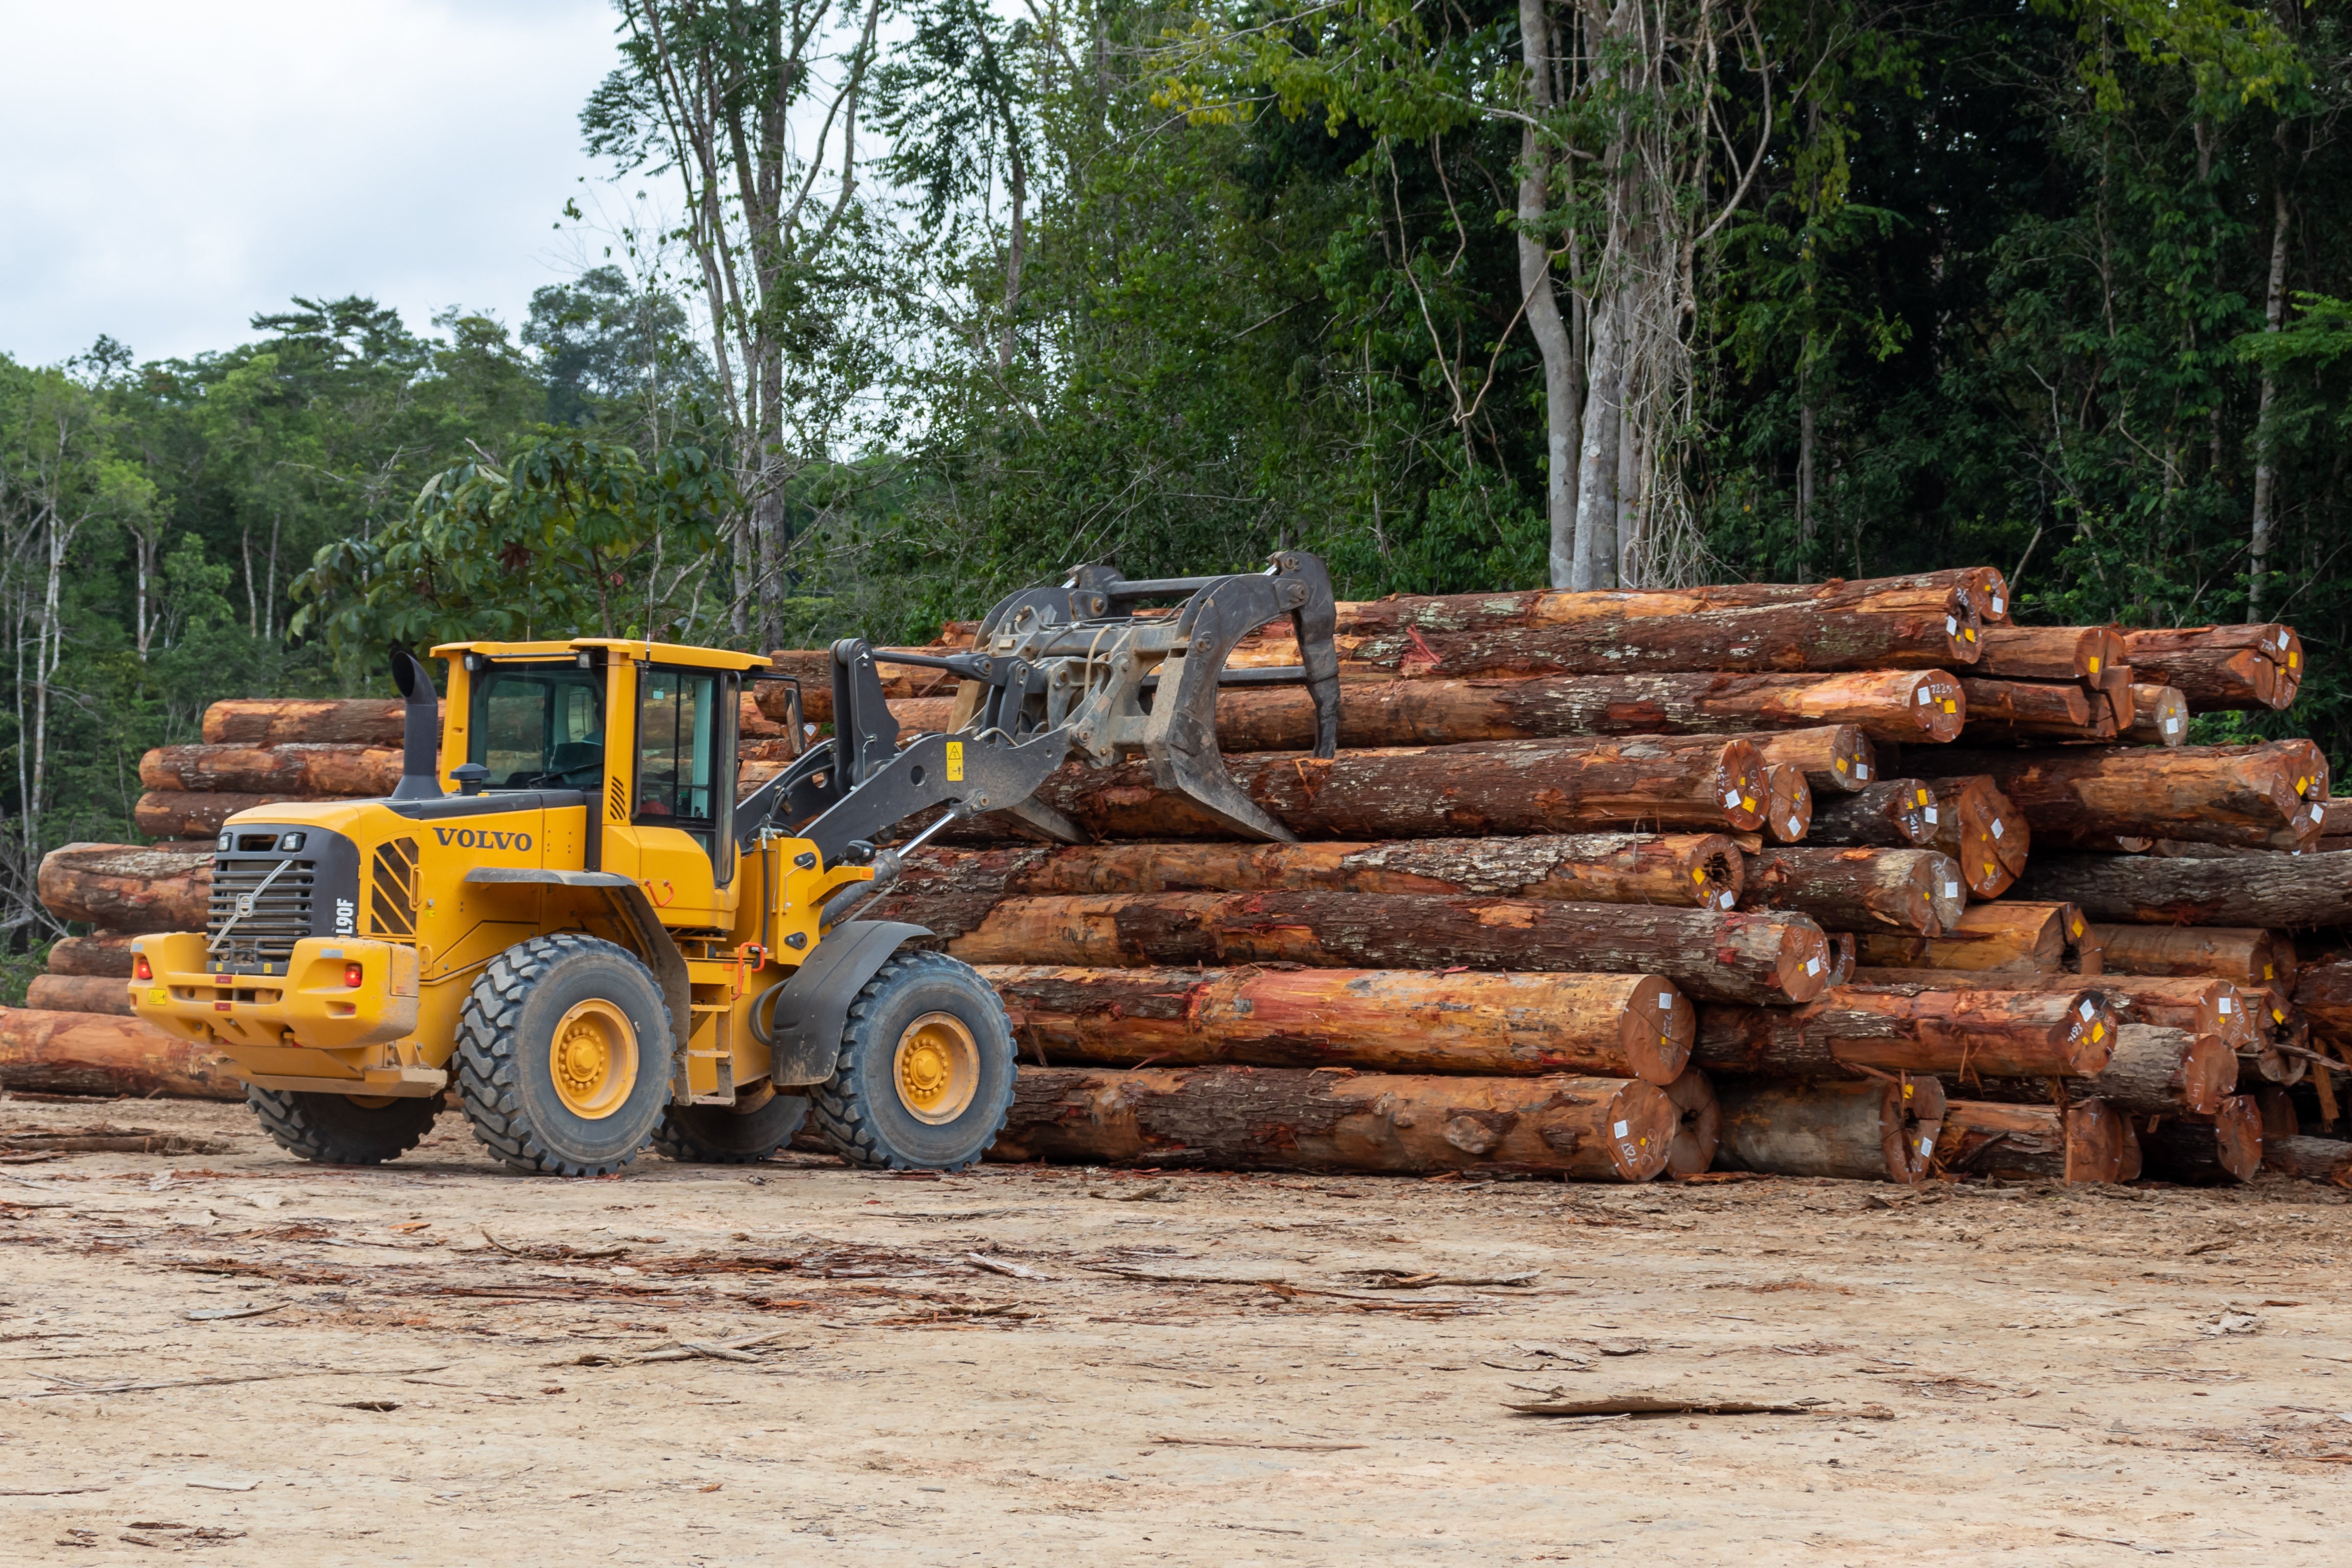
{"label": "yellow Volvo wheel loader with grey grapple arm raised", "polygon": [[[1301,663],[1225,670],[1279,616]],[[303,1159],[395,1159],[454,1086],[475,1135],[527,1173],[604,1175],[647,1143],[764,1159],[811,1114],[854,1164],[962,1168],[1004,1126],[1011,1023],[978,973],[922,950],[929,931],[858,905],[981,811],[1075,842],[1033,799],[1073,755],[1141,755],[1235,832],[1289,837],[1225,773],[1216,691],[1308,684],[1329,757],[1331,630],[1312,555],[1216,578],[1082,567],[997,604],[969,654],[833,644],[835,733],[743,799],[739,691],[783,679],[764,658],[445,644],[435,733],[430,672],[395,651],[400,785],[228,818],[205,931],[132,945],[132,1006],[226,1051]],[[877,661],[953,677],[955,731],[901,745]]]}

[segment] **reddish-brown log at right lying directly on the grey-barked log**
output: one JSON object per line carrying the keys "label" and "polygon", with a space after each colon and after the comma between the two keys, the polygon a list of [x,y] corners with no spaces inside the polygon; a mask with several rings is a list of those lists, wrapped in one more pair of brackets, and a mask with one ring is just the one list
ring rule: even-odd
{"label": "reddish-brown log at right lying directly on the grey-barked log", "polygon": [[1955,773],[1990,773],[2044,846],[2145,835],[2298,849],[2319,837],[2328,764],[2310,741],[2260,745],[2082,745],[1950,750]]}

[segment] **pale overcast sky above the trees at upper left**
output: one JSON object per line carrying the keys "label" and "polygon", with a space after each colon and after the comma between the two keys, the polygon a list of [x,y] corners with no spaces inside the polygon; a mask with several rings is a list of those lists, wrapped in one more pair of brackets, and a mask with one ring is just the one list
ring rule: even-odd
{"label": "pale overcast sky above the trees at upper left", "polygon": [[[0,353],[249,341],[294,294],[520,324],[579,270],[609,0],[0,0]],[[612,205],[612,197],[604,200]]]}

